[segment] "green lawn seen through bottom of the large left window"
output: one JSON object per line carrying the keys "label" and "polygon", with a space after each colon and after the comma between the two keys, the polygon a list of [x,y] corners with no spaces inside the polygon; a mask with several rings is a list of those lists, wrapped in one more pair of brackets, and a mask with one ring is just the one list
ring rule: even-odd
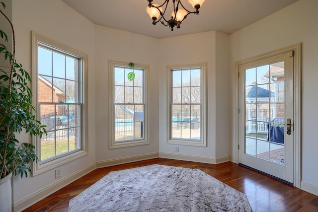
{"label": "green lawn seen through bottom of the large left window", "polygon": [[68,148],[68,140],[60,140],[56,142],[56,154],[54,141],[41,141],[41,160],[59,155],[75,149],[75,140],[70,140]]}

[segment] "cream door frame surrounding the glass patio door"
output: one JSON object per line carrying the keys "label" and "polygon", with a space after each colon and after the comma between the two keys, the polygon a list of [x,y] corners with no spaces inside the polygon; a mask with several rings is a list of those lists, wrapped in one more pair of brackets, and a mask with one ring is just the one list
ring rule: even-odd
{"label": "cream door frame surrounding the glass patio door", "polygon": [[[293,152],[293,175],[294,175],[294,186],[300,188],[301,183],[301,133],[302,133],[302,122],[301,122],[301,106],[302,106],[302,84],[301,84],[301,43],[282,48],[276,51],[264,53],[252,58],[235,62],[235,113],[234,113],[234,162],[239,163],[239,65],[250,63],[264,58],[284,54],[290,51],[294,51],[294,152]],[[242,111],[243,112],[243,111]]]}

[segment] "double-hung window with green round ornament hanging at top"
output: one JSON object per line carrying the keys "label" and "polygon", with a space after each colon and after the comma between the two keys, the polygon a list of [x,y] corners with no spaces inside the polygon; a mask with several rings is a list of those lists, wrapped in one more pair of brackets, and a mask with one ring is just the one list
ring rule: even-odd
{"label": "double-hung window with green round ornament hanging at top", "polygon": [[[110,138],[109,147],[123,147],[148,144],[147,141],[147,67],[109,62],[110,79]],[[134,72],[135,79],[128,80],[128,73]]]}

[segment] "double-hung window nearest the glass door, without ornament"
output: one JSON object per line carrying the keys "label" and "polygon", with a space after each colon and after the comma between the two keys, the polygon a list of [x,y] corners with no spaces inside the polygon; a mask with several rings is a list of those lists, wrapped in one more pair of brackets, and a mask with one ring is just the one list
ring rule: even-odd
{"label": "double-hung window nearest the glass door, without ornament", "polygon": [[205,67],[168,68],[168,143],[206,146]]}

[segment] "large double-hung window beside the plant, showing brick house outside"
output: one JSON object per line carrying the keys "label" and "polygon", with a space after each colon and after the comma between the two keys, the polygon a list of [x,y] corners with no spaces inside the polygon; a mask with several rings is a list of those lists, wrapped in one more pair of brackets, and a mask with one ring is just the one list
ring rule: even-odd
{"label": "large double-hung window beside the plant, showing brick house outside", "polygon": [[37,119],[48,132],[35,143],[40,169],[65,163],[85,149],[85,55],[35,34],[33,39]]}

